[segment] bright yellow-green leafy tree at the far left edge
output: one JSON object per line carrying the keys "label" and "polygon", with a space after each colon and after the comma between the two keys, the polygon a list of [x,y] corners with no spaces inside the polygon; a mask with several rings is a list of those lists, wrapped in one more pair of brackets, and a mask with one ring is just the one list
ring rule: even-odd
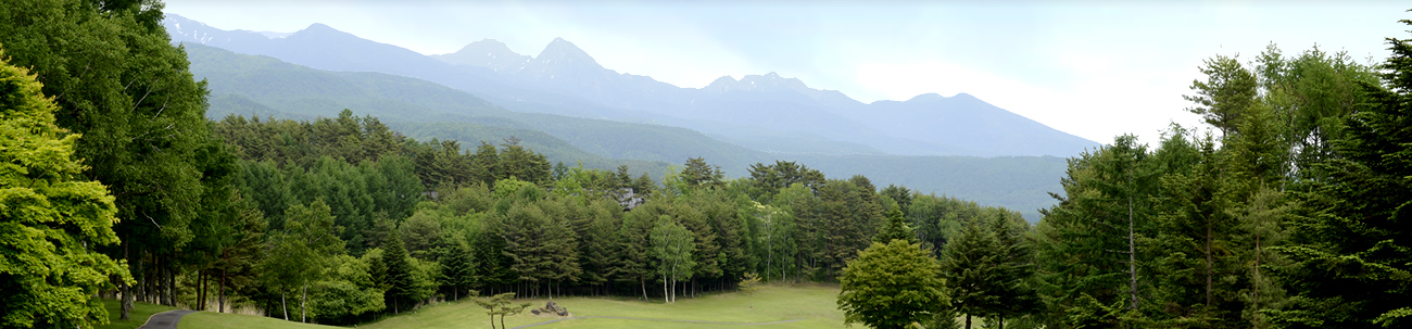
{"label": "bright yellow-green leafy tree at the far left edge", "polygon": [[[8,6],[7,6],[8,7]],[[113,196],[85,178],[79,134],[54,123],[58,107],[28,71],[0,51],[0,328],[107,323],[93,298],[127,270],[92,247],[116,244]]]}

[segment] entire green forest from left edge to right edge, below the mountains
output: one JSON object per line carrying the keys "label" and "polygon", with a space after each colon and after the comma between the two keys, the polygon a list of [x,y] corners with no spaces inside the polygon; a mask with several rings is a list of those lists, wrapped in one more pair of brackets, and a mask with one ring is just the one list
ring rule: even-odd
{"label": "entire green forest from left edge to right edge, below the mountains", "polygon": [[1384,62],[1213,56],[1185,96],[1203,126],[1069,158],[1032,225],[802,162],[727,179],[698,157],[654,179],[356,109],[213,121],[161,17],[0,6],[0,328],[93,328],[102,299],[124,319],[143,301],[357,325],[755,280],[837,284],[873,328],[1412,326],[1409,40]]}

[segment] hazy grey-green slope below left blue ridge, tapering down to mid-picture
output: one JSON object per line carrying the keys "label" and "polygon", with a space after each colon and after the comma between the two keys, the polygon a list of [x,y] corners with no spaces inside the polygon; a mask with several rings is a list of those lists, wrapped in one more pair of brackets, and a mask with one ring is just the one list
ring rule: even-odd
{"label": "hazy grey-green slope below left blue ridge, tapering down to mid-picture", "polygon": [[[514,131],[532,131],[535,134],[549,131],[546,136],[563,141],[562,145],[552,141],[539,144],[555,148],[572,145],[573,150],[542,150],[542,152],[546,155],[563,154],[563,158],[551,157],[551,160],[566,164],[585,160],[585,165],[606,164],[604,161],[609,158],[682,162],[688,157],[712,157],[727,161],[733,167],[746,168],[748,164],[767,158],[762,152],[678,127],[517,113],[500,109],[469,93],[412,78],[369,72],[329,72],[268,56],[240,55],[203,45],[185,47],[192,62],[192,75],[209,82],[212,107],[208,116],[213,119],[226,114],[312,119],[332,117],[343,109],[353,109],[360,116],[371,114],[390,126],[448,133],[446,136],[415,134],[419,137],[498,143],[500,138],[510,137]],[[463,128],[428,123],[496,127],[497,130],[487,131],[505,134],[487,136],[487,131],[472,134]],[[527,138],[527,143],[537,141]],[[580,152],[602,157],[604,161],[587,161],[590,158],[582,158]],[[654,164],[652,167],[661,165]],[[659,174],[654,172],[654,175]]]}

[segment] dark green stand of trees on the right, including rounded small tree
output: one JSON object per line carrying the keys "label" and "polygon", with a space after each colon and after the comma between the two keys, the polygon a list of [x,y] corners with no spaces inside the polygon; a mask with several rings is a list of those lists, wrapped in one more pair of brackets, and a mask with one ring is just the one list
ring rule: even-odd
{"label": "dark green stand of trees on the right, including rounded small tree", "polygon": [[1070,158],[1031,232],[967,225],[940,257],[918,254],[922,232],[875,241],[844,270],[846,321],[1406,328],[1412,41],[1387,41],[1382,64],[1207,59],[1186,96],[1204,126]]}

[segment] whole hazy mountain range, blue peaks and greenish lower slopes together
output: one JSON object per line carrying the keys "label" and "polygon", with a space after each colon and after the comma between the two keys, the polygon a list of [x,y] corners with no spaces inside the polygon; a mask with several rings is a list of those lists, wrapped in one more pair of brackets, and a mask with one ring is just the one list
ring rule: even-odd
{"label": "whole hazy mountain range, blue peaks and greenish lower slopes together", "polygon": [[[563,40],[538,56],[490,40],[425,56],[322,24],[292,34],[225,31],[172,14],[165,24],[186,47],[192,73],[209,82],[213,119],[313,119],[353,109],[419,140],[473,147],[515,136],[551,161],[626,164],[654,177],[688,157],[730,177],[755,162],[798,161],[829,177],[863,174],[880,186],[1007,206],[1031,220],[1052,205],[1046,192],[1059,191],[1065,169],[1062,157],[974,157],[1062,152],[1041,141],[1067,134],[969,95],[864,104],[775,73],[676,88],[603,69]],[[955,136],[963,128],[991,133]],[[918,138],[897,137],[902,130]],[[1070,147],[1091,143],[1077,140]],[[986,151],[976,145],[983,141],[1011,147]]]}

